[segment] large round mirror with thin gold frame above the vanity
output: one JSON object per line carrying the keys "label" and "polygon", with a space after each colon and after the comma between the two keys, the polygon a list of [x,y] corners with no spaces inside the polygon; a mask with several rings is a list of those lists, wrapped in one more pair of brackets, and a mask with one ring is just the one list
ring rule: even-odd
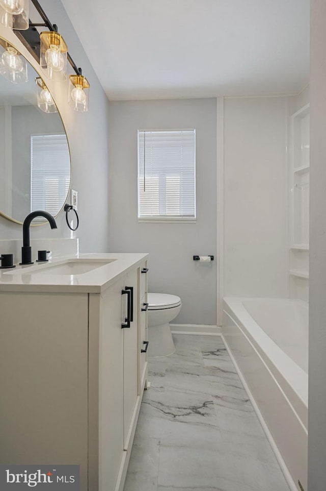
{"label": "large round mirror with thin gold frame above the vanity", "polygon": [[70,178],[66,132],[51,94],[0,38],[0,214],[18,223],[35,210],[56,216]]}

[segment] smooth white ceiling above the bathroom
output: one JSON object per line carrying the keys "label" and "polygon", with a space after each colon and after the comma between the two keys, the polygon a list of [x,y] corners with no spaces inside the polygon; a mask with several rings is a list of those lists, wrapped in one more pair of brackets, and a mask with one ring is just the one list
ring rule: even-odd
{"label": "smooth white ceiling above the bathroom", "polygon": [[309,82],[309,0],[62,3],[111,100],[294,94]]}

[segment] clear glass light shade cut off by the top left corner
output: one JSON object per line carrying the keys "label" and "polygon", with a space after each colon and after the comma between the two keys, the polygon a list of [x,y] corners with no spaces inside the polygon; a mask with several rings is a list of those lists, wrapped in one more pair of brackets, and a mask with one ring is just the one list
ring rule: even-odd
{"label": "clear glass light shade cut off by the top left corner", "polygon": [[0,0],[0,22],[10,29],[29,28],[30,0]]}

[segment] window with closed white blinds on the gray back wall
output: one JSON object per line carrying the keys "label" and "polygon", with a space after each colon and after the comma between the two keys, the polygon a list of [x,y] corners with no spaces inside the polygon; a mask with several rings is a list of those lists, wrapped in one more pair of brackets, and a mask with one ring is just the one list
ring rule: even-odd
{"label": "window with closed white blinds on the gray back wall", "polygon": [[138,218],[196,219],[195,130],[138,131]]}

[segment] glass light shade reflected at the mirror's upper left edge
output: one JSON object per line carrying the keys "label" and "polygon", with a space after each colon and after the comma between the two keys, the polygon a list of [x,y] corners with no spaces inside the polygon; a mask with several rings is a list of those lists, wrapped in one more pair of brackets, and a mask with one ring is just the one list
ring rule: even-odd
{"label": "glass light shade reflected at the mirror's upper left edge", "polygon": [[28,82],[26,59],[9,43],[0,40],[0,75],[13,84]]}

